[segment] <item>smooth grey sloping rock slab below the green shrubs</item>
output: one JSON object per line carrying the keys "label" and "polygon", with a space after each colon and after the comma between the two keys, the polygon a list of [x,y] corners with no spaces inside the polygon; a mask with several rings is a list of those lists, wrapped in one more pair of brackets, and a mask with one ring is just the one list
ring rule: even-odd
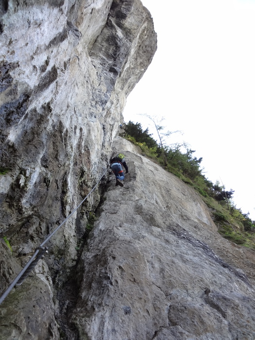
{"label": "smooth grey sloping rock slab below the green shrubs", "polygon": [[[255,339],[253,251],[222,238],[199,195],[124,139],[78,267],[81,339]],[[114,176],[112,176],[114,177]]]}

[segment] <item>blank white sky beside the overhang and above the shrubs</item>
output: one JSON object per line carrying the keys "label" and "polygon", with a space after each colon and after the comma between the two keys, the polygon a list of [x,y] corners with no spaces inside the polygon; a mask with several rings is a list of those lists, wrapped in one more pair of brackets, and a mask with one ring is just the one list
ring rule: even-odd
{"label": "blank white sky beside the overhang and above the shrubs", "polygon": [[142,0],[158,48],[129,95],[124,121],[165,117],[203,157],[204,175],[222,180],[237,208],[255,220],[255,0]]}

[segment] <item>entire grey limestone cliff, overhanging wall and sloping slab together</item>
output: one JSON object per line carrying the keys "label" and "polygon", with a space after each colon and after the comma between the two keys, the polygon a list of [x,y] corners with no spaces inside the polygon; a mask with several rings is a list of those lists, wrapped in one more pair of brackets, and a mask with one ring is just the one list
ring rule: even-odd
{"label": "entire grey limestone cliff, overhanging wall and sloping slab together", "polygon": [[139,0],[1,2],[0,293],[105,176],[1,304],[0,339],[255,339],[254,252],[117,136],[155,49]]}

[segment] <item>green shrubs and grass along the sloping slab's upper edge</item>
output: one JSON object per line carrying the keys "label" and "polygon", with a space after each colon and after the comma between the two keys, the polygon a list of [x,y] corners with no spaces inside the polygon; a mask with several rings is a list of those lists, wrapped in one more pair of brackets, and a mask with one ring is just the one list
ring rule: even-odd
{"label": "green shrubs and grass along the sloping slab's upper edge", "polygon": [[[232,201],[234,190],[225,190],[219,182],[213,184],[204,176],[203,168],[200,167],[202,157],[195,157],[195,151],[185,144],[169,146],[162,143],[162,138],[157,143],[152,134],[149,134],[149,129],[143,130],[138,122],[129,121],[123,127],[125,138],[139,146],[143,153],[157,161],[165,170],[199,192],[212,211],[212,218],[224,238],[255,249],[255,221],[249,218],[249,213],[243,213],[235,206]],[[155,127],[160,134],[162,126],[155,124]],[[181,151],[183,148],[186,149],[184,153]]]}

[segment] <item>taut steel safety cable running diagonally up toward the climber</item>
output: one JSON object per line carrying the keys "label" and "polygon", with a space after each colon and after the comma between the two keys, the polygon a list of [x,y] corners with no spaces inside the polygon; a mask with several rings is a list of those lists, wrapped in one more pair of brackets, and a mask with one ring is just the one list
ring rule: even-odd
{"label": "taut steel safety cable running diagonally up toward the climber", "polygon": [[93,189],[89,191],[87,196],[82,200],[82,202],[70,213],[70,215],[46,238],[40,245],[35,249],[34,255],[31,257],[31,259],[28,261],[28,263],[25,265],[25,267],[22,269],[22,271],[17,275],[17,277],[13,280],[13,282],[10,284],[10,286],[5,290],[5,292],[0,297],[0,305],[3,302],[3,300],[6,298],[6,296],[10,293],[10,291],[15,286],[20,286],[22,282],[25,280],[25,278],[29,275],[30,272],[33,271],[34,267],[38,263],[40,258],[43,258],[45,254],[48,252],[48,248],[43,248],[44,244],[49,241],[49,239],[58,231],[58,229],[75,213],[75,211],[84,203],[85,199],[95,190],[95,188],[98,186],[99,182],[101,181],[102,177],[105,175],[107,170],[104,171],[100,179],[98,180],[97,184]]}

